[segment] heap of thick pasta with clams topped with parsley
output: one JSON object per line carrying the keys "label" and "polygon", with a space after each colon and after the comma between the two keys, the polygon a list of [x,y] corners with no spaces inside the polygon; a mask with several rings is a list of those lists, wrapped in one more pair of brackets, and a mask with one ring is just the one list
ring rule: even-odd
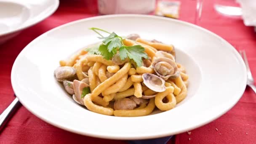
{"label": "heap of thick pasta with clams topped with parsley", "polygon": [[188,75],[173,45],[90,29],[102,42],[59,61],[54,71],[78,104],[103,115],[138,117],[173,109],[187,96]]}

